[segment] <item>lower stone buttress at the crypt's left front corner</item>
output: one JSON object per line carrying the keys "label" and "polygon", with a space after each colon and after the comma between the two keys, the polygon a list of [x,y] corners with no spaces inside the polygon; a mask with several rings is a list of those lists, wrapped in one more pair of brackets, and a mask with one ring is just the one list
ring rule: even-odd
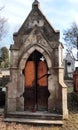
{"label": "lower stone buttress at the crypt's left front corner", "polygon": [[16,99],[17,99],[17,68],[12,68],[12,79],[7,84],[6,92],[6,107],[7,112],[16,111]]}

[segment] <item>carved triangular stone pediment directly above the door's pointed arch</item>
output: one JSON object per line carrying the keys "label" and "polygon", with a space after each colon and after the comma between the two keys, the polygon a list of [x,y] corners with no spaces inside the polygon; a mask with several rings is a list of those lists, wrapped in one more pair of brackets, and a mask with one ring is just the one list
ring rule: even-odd
{"label": "carved triangular stone pediment directly above the door's pointed arch", "polygon": [[47,49],[49,52],[52,52],[51,45],[47,40],[46,36],[35,27],[30,35],[23,36],[24,45],[21,47],[22,50],[28,46],[32,47],[33,45],[41,46],[42,48]]}

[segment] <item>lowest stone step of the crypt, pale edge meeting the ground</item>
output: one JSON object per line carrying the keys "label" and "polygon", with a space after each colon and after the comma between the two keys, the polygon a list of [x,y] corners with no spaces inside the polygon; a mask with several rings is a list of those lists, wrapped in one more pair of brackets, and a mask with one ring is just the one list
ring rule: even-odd
{"label": "lowest stone step of the crypt, pale edge meeting the ground", "polygon": [[23,119],[23,118],[4,118],[5,122],[27,123],[27,124],[55,124],[62,125],[62,120],[41,120],[41,119]]}

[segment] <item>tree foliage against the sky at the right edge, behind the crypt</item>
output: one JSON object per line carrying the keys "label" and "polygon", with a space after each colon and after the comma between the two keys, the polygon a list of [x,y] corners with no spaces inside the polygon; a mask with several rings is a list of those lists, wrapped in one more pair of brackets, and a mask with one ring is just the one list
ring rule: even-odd
{"label": "tree foliage against the sky at the right edge, behind the crypt", "polygon": [[76,23],[72,23],[70,28],[64,31],[63,35],[66,46],[68,48],[71,49],[72,47],[76,47],[78,37],[78,25]]}

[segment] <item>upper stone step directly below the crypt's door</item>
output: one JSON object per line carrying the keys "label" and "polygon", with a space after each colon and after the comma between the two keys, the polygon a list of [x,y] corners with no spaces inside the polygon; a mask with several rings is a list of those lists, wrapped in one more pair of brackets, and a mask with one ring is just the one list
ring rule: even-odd
{"label": "upper stone step directly below the crypt's door", "polygon": [[62,120],[61,114],[52,114],[48,112],[10,112],[8,113],[7,117],[41,120]]}

